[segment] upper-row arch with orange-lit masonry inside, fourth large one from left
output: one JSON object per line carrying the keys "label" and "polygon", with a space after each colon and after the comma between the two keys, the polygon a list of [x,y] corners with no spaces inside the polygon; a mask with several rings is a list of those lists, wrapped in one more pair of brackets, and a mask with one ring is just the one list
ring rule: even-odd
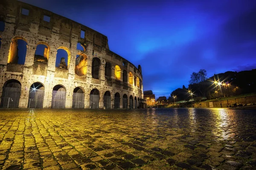
{"label": "upper-row arch with orange-lit masonry inside, fourth large one from left", "polygon": [[76,55],[75,73],[79,76],[86,75],[87,73],[87,57],[84,54]]}

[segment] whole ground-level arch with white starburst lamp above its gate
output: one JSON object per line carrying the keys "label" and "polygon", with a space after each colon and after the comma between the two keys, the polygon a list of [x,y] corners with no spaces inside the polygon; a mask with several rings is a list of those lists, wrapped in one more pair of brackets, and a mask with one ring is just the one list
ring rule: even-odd
{"label": "whole ground-level arch with white starburst lamp above its gate", "polygon": [[28,108],[43,108],[44,85],[41,82],[33,83],[29,88]]}

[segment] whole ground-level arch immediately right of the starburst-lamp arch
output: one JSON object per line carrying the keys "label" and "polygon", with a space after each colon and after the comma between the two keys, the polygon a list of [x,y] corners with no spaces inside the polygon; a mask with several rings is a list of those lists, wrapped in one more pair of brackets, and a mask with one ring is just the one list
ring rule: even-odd
{"label": "whole ground-level arch immediately right of the starburst-lamp arch", "polygon": [[55,85],[52,89],[52,108],[65,108],[66,89],[63,85]]}

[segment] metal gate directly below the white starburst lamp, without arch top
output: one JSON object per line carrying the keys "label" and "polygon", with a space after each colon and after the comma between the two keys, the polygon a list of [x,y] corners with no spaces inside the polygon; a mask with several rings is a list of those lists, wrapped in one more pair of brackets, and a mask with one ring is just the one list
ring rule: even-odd
{"label": "metal gate directly below the white starburst lamp, without arch top", "polygon": [[28,108],[43,108],[44,90],[30,89]]}

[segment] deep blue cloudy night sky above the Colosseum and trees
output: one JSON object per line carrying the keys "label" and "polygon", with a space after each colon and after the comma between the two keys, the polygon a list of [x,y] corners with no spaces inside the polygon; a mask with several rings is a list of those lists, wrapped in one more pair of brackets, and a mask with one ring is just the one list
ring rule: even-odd
{"label": "deep blue cloudy night sky above the Colosseum and trees", "polygon": [[106,35],[156,97],[187,87],[193,71],[256,68],[256,0],[21,1]]}

